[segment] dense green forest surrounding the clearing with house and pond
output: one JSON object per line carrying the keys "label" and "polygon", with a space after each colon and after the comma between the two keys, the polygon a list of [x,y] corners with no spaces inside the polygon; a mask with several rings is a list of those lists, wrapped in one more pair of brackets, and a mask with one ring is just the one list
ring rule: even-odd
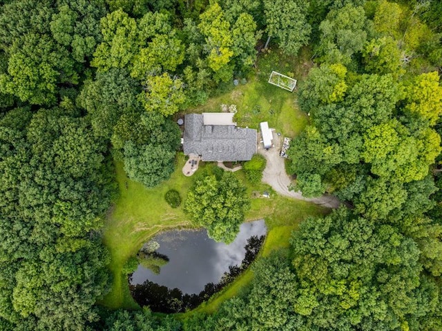
{"label": "dense green forest surrounding the clearing with house and pond", "polygon": [[[1,330],[442,330],[442,2],[0,3]],[[345,206],[302,222],[215,314],[108,311],[114,160],[146,187],[168,179],[173,115],[248,77],[266,43],[315,63],[295,188]],[[238,227],[240,183],[204,181],[239,192]],[[226,224],[209,231],[231,241]]]}

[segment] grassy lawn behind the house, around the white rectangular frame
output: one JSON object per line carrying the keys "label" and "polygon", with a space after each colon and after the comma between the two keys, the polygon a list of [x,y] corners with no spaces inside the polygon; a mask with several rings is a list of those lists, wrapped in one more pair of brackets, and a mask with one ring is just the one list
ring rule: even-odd
{"label": "grassy lawn behind the house, around the white rectangular frame", "polygon": [[276,128],[287,137],[295,137],[308,122],[307,115],[298,108],[296,92],[283,90],[267,81],[272,70],[302,80],[310,67],[307,50],[301,52],[300,57],[270,51],[259,58],[259,70],[249,76],[245,85],[232,87],[229,92],[186,112],[220,112],[222,104],[236,104],[238,126],[258,129],[260,122],[268,121],[270,128]]}

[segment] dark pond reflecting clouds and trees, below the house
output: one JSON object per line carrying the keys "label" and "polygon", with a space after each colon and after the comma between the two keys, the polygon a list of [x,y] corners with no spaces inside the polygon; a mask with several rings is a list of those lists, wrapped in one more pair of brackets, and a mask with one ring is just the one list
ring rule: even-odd
{"label": "dark pond reflecting clouds and trees, below the house", "polygon": [[[155,312],[182,312],[195,308],[243,270],[264,242],[265,221],[242,223],[235,241],[217,243],[206,230],[174,230],[153,238],[160,244],[153,258],[157,268],[138,265],[129,277],[135,301]],[[149,255],[152,257],[152,255]],[[146,265],[146,263],[143,263]]]}

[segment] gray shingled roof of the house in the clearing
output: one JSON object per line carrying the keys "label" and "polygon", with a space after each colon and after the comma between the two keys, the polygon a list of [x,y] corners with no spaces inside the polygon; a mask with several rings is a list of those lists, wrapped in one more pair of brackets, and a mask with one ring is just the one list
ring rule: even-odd
{"label": "gray shingled roof of the house in the clearing", "polygon": [[204,126],[201,114],[184,116],[184,154],[202,161],[248,161],[256,154],[256,130],[235,126]]}

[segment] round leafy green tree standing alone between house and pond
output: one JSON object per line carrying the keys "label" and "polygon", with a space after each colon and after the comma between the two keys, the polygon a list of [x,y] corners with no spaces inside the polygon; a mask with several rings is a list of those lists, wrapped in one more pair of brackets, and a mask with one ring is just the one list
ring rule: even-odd
{"label": "round leafy green tree standing alone between house and pond", "polygon": [[199,179],[184,201],[184,211],[192,222],[224,243],[235,239],[249,208],[246,188],[231,172],[223,172],[220,179],[213,174]]}

